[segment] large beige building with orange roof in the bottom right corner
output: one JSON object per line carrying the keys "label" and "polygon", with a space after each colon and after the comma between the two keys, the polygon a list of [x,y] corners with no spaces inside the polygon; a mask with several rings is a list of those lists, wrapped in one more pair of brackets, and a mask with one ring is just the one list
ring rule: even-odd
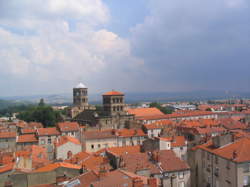
{"label": "large beige building with orange roof in the bottom right corner", "polygon": [[250,186],[250,139],[230,134],[193,148],[189,164],[193,187]]}

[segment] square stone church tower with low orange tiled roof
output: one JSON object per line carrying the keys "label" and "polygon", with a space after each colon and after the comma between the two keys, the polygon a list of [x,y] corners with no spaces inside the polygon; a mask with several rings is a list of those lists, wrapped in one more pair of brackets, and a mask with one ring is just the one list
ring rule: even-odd
{"label": "square stone church tower with low orange tiled roof", "polygon": [[124,114],[124,94],[117,91],[107,92],[103,96],[103,108],[107,115]]}

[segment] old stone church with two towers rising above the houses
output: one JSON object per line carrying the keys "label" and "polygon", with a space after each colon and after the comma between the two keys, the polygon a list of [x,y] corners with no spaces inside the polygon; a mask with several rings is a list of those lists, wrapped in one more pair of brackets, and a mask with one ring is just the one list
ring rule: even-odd
{"label": "old stone church with two towers rising above the houses", "polygon": [[97,129],[130,127],[134,122],[134,115],[125,111],[124,97],[122,92],[106,92],[102,95],[102,107],[97,109],[88,103],[88,88],[80,83],[73,88],[70,116],[73,121]]}

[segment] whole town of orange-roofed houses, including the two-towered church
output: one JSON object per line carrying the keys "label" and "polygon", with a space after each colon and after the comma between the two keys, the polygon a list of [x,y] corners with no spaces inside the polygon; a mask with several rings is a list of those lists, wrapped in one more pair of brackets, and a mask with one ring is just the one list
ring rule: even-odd
{"label": "whole town of orange-roofed houses, including the two-towered church", "polygon": [[55,127],[2,118],[0,186],[250,186],[248,101],[175,104],[164,114],[127,105],[119,91],[102,97],[97,110],[80,83]]}

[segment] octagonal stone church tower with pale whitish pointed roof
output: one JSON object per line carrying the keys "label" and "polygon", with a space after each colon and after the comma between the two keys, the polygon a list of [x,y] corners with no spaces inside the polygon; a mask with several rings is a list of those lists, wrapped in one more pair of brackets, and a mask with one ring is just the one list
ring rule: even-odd
{"label": "octagonal stone church tower with pale whitish pointed roof", "polygon": [[88,106],[88,88],[82,83],[73,88],[73,104],[77,107]]}

